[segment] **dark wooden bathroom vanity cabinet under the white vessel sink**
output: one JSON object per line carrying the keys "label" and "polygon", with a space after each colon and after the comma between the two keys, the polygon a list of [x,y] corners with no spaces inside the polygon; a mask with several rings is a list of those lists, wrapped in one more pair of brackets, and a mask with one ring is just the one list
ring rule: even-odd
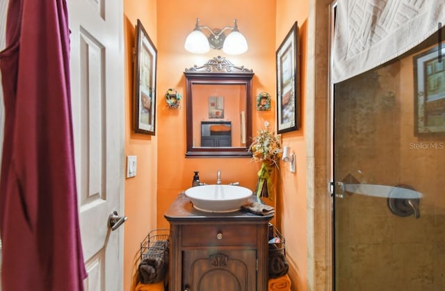
{"label": "dark wooden bathroom vanity cabinet under the white vessel sink", "polygon": [[[259,201],[252,195],[250,201]],[[273,215],[196,210],[184,193],[170,222],[169,290],[268,290],[268,222]]]}

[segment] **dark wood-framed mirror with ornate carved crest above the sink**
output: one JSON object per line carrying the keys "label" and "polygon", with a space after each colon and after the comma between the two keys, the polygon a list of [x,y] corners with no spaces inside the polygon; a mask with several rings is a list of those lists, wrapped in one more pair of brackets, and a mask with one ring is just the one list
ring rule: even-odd
{"label": "dark wood-framed mirror with ornate carved crest above the sink", "polygon": [[218,56],[184,75],[186,157],[251,157],[252,69]]}

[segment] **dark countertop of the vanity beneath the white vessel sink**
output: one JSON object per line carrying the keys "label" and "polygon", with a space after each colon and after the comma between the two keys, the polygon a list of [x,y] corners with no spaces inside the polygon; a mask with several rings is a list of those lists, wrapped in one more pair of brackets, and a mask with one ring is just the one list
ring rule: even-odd
{"label": "dark countertop of the vanity beneath the white vessel sink", "polygon": [[[261,202],[256,195],[252,194],[252,196],[248,200],[249,202]],[[200,222],[203,219],[209,220],[226,220],[226,219],[234,219],[234,220],[252,220],[253,221],[269,221],[273,214],[269,215],[254,215],[253,213],[248,213],[243,210],[238,210],[230,213],[208,213],[201,210],[197,210],[193,207],[193,204],[190,199],[181,192],[178,194],[177,199],[173,201],[170,208],[168,208],[167,212],[164,215],[165,219],[169,222]]]}

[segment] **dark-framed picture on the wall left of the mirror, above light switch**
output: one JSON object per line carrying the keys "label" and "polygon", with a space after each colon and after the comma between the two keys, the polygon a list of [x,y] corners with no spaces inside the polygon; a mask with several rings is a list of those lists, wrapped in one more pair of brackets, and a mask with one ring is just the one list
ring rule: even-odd
{"label": "dark-framed picture on the wall left of the mirror, above light switch", "polygon": [[139,19],[136,25],[135,54],[133,76],[134,132],[154,135],[157,51]]}

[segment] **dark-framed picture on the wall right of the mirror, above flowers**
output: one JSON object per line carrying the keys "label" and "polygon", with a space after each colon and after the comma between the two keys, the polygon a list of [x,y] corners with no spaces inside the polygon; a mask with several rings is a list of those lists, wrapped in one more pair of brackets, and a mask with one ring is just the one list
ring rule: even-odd
{"label": "dark-framed picture on the wall right of the mirror, above flowers", "polygon": [[277,50],[277,133],[296,131],[300,119],[298,24]]}

